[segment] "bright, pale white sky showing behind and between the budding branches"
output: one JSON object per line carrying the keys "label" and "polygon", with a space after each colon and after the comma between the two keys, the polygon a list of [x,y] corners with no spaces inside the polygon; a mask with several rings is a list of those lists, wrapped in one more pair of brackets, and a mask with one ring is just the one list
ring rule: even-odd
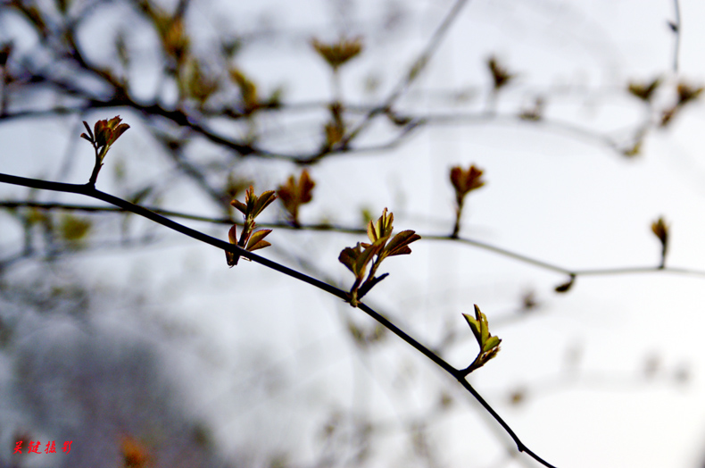
{"label": "bright, pale white sky showing behind and between the budding branches", "polygon": [[[276,8],[267,13],[273,24],[300,30],[298,42],[254,46],[245,51],[241,66],[261,88],[285,84],[286,99],[292,102],[328,99],[325,67],[306,41],[313,35],[335,37],[336,28],[330,26],[336,18],[333,3],[311,1],[305,7],[303,2],[270,3]],[[352,35],[366,38],[366,51],[344,69],[344,96],[352,102],[368,100],[361,83],[370,72],[379,75],[380,95],[393,86],[450,5],[407,3],[411,17],[401,38],[373,39],[366,35],[375,30],[374,20],[384,7],[362,2],[353,8],[355,21],[347,27]],[[484,98],[439,105],[419,96],[419,91],[472,88],[484,93],[488,85],[484,61],[497,54],[511,71],[518,71],[516,85],[500,97],[501,112],[516,113],[531,103],[535,89],[568,86],[578,90],[566,96],[548,94],[548,117],[586,128],[622,130],[640,112],[635,99],[620,91],[628,79],[648,80],[659,74],[671,87],[678,79],[703,82],[705,5],[691,0],[680,7],[680,70],[674,75],[674,38],[667,26],[674,18],[673,2],[471,0],[427,73],[400,105],[419,113],[477,112]],[[203,28],[198,30],[207,43],[209,34],[224,29],[256,30],[270,6],[196,1],[194,10],[192,21]],[[211,29],[205,28],[208,25]],[[99,44],[96,39],[95,47]],[[149,56],[145,51],[145,62]],[[146,77],[145,88],[149,83]],[[704,117],[701,104],[686,108],[673,128],[652,131],[643,155],[634,160],[541,125],[485,122],[427,128],[386,155],[330,158],[312,168],[318,185],[314,203],[303,208],[303,221],[327,216],[349,224],[359,219],[361,207],[380,213],[387,206],[396,214],[397,230],[446,233],[452,229],[453,215],[448,170],[455,164],[475,163],[485,170],[488,183],[469,196],[465,236],[567,268],[648,266],[659,262],[651,221],[663,215],[671,225],[668,265],[705,270]],[[262,123],[272,130],[278,130],[277,124]],[[4,141],[10,132],[25,135],[12,140],[13,154],[7,149],[0,153],[1,171],[56,173],[59,163],[45,156],[51,152],[47,141],[54,141],[48,138],[57,127],[65,129],[68,124],[42,126],[41,141],[26,138],[25,125],[0,127]],[[318,138],[316,127],[298,132],[294,123],[290,125],[275,140],[278,146],[311,145]],[[112,156],[125,160],[131,173],[146,179],[145,171],[154,167],[157,157],[149,155],[149,144],[141,138],[145,131],[134,126],[120,140],[125,147],[116,147]],[[65,145],[61,138],[56,141]],[[130,142],[146,159],[132,159]],[[89,164],[89,148],[79,147],[83,163]],[[110,171],[109,163],[104,171]],[[258,181],[269,180],[272,185],[294,170],[271,163],[251,167]],[[78,181],[85,169],[76,163],[71,173],[76,179],[71,181]],[[110,191],[111,180],[102,176],[100,188]],[[2,193],[22,192],[4,188]],[[189,196],[190,192],[175,188],[166,193],[164,205],[190,213],[208,209]],[[201,227],[226,235],[224,228]],[[154,313],[162,311],[170,321],[197,327],[201,339],[188,342],[180,372],[191,380],[184,385],[195,414],[205,414],[215,424],[220,448],[226,452],[236,455],[238,447],[248,445],[243,441],[251,439],[249,445],[262,450],[294,450],[294,461],[305,465],[312,450],[307,437],[331,405],[402,420],[430,405],[425,397],[434,395],[439,382],[446,382],[440,371],[419,364],[424,358],[395,338],[388,338],[389,349],[382,352],[367,357],[353,353],[340,338],[344,329],[340,317],[354,316],[355,311],[336,299],[259,265],[245,263],[228,270],[221,252],[169,238],[168,247],[129,257],[124,269],[106,262],[110,256],[87,256],[80,262],[88,276],[106,284],[139,284],[149,294]],[[337,254],[361,239],[275,231],[270,240],[308,253],[324,272],[348,281]],[[8,242],[3,239],[0,245]],[[705,278],[668,273],[579,277],[567,295],[558,296],[552,288],[566,280],[560,274],[472,247],[420,241],[412,250],[408,257],[386,262],[385,271],[391,275],[369,294],[370,304],[380,305],[429,345],[437,342],[449,321],[470,336],[460,313],[470,313],[474,303],[480,305],[491,330],[503,339],[502,352],[471,382],[535,453],[559,467],[573,468],[702,464]],[[518,322],[502,322],[529,289],[535,289],[541,310]],[[129,312],[107,310],[104,321],[117,326],[125,314]],[[493,319],[499,322],[496,329]],[[137,320],[130,317],[127,322]],[[561,383],[572,349],[582,353],[577,377]],[[265,357],[258,357],[262,351]],[[467,341],[446,357],[464,366],[475,353]],[[644,381],[643,368],[654,355],[661,373]],[[266,397],[264,390],[248,391],[233,379],[234,374],[239,377],[252,369],[258,359],[270,359],[272,369],[281,370],[286,391]],[[671,382],[668,372],[683,366],[691,380],[686,385]],[[416,373],[403,374],[407,367]],[[444,447],[444,464],[493,466],[502,456],[496,441],[506,438],[496,436],[493,423],[485,422],[469,395],[449,380],[447,385],[460,403],[432,425],[432,437]],[[529,391],[527,402],[507,404],[510,391],[522,387]],[[228,447],[228,440],[239,445]],[[392,439],[387,447],[398,460],[403,443]],[[531,465],[526,460],[519,457],[505,466]]]}

